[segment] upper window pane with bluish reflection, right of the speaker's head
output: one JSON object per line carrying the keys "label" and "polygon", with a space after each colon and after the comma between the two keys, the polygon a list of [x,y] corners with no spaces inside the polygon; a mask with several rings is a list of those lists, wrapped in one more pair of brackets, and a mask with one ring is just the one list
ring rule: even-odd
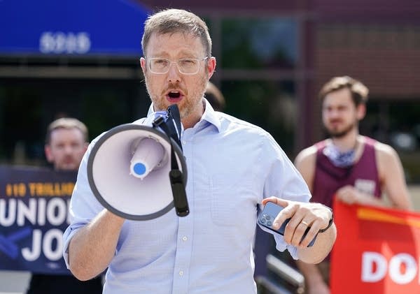
{"label": "upper window pane with bluish reflection, right of the speaker's head", "polygon": [[295,68],[298,57],[295,20],[228,18],[221,27],[223,68]]}

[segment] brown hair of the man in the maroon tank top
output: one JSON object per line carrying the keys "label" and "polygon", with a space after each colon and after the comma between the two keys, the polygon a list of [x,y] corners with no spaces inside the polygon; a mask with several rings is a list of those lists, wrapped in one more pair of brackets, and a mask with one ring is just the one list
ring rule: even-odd
{"label": "brown hair of the man in the maroon tank top", "polygon": [[360,104],[365,104],[367,102],[367,95],[369,94],[369,89],[362,84],[359,80],[353,79],[347,75],[342,77],[334,77],[328,82],[326,82],[321,91],[319,91],[319,98],[321,101],[328,94],[338,91],[340,89],[349,89],[351,92],[351,98],[356,106]]}

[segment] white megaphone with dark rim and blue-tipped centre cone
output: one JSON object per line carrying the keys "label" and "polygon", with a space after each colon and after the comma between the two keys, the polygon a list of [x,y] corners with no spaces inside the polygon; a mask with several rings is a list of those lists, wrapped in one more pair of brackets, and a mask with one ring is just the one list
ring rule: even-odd
{"label": "white megaphone with dark rim and blue-tipped centre cone", "polygon": [[153,127],[123,124],[102,135],[87,160],[87,179],[99,203],[125,219],[155,219],[173,207],[178,216],[188,215],[180,133],[175,104]]}

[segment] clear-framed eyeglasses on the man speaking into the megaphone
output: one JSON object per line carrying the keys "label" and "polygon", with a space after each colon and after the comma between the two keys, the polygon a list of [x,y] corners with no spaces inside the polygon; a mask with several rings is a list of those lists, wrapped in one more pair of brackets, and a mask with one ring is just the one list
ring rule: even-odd
{"label": "clear-framed eyeglasses on the man speaking into the megaphone", "polygon": [[204,57],[203,59],[181,58],[177,61],[170,61],[169,59],[158,57],[148,58],[146,59],[146,62],[152,73],[167,73],[171,65],[176,64],[180,73],[183,73],[184,75],[195,75],[200,69],[200,61],[204,61],[208,58],[209,57]]}

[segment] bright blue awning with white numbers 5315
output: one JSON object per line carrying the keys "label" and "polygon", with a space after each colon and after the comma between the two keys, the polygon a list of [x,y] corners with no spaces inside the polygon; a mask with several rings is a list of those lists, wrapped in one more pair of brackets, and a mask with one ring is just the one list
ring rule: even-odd
{"label": "bright blue awning with white numbers 5315", "polygon": [[134,0],[0,0],[0,54],[141,55]]}

